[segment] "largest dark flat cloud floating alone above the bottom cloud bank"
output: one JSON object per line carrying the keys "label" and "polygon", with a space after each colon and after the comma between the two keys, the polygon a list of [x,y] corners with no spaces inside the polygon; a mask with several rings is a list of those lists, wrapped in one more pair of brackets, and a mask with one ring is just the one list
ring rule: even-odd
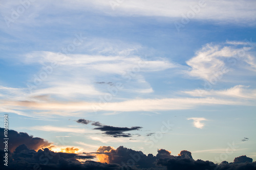
{"label": "largest dark flat cloud floating alone above the bottom cloud bank", "polygon": [[[76,122],[87,125],[87,124],[91,123],[92,121],[80,118]],[[131,133],[124,133],[124,132],[140,130],[142,128],[142,127],[138,127],[138,126],[137,127],[131,127],[131,128],[114,127],[114,126],[103,125],[100,122],[92,122],[91,125],[97,126],[97,128],[94,128],[94,130],[103,131],[102,134],[112,136],[112,137],[132,137]],[[137,135],[139,135],[139,134],[137,134]]]}

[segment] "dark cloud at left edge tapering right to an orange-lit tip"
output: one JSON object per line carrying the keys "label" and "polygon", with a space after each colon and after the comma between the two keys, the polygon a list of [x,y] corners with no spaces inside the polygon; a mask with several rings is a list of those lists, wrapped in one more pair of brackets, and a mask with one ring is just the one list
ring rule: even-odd
{"label": "dark cloud at left edge tapering right to an orange-lit tip", "polygon": [[[8,141],[8,149],[13,152],[20,144],[26,144],[29,149],[38,150],[40,148],[45,148],[51,145],[48,141],[39,138],[29,136],[24,132],[17,132],[14,130],[8,130],[9,141]],[[0,128],[0,138],[4,139],[4,128]],[[0,148],[5,148],[4,143],[0,143]]]}

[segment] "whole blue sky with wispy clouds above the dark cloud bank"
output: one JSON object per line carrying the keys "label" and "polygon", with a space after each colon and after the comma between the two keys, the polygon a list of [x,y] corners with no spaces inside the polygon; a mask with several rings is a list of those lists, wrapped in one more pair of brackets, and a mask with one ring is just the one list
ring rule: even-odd
{"label": "whole blue sky with wispy clouds above the dark cloud bank", "polygon": [[255,7],[1,1],[0,125],[8,114],[9,129],[54,152],[123,146],[256,160]]}

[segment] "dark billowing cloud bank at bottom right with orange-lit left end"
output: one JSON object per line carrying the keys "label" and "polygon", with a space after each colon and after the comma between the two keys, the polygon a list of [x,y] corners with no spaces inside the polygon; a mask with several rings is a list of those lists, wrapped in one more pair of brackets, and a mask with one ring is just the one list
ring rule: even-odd
{"label": "dark billowing cloud bank at bottom right with orange-lit left end", "polygon": [[170,151],[164,149],[158,150],[157,156],[152,154],[148,154],[146,156],[141,151],[134,151],[122,146],[118,147],[116,150],[112,147],[100,147],[97,152],[104,154],[104,156],[100,156],[103,162],[109,161],[109,163],[119,164],[122,166],[122,169],[137,167],[138,169],[148,168],[164,170],[252,170],[256,168],[256,162],[228,163],[227,161],[223,161],[221,164],[215,164],[213,162],[203,161],[200,159],[194,160],[191,152],[185,150],[181,151],[178,156],[173,156]]}

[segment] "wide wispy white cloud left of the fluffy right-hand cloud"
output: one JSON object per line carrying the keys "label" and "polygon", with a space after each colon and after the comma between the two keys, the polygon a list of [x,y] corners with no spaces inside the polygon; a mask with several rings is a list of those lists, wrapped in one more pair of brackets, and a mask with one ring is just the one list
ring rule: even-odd
{"label": "wide wispy white cloud left of the fluffy right-hand cloud", "polygon": [[[120,74],[127,70],[145,72],[161,71],[176,67],[166,59],[144,60],[139,56],[65,55],[53,52],[32,52],[26,54],[27,63],[56,62],[60,66],[75,66],[79,69],[99,71],[101,74]],[[59,68],[58,68],[59,69]]]}

